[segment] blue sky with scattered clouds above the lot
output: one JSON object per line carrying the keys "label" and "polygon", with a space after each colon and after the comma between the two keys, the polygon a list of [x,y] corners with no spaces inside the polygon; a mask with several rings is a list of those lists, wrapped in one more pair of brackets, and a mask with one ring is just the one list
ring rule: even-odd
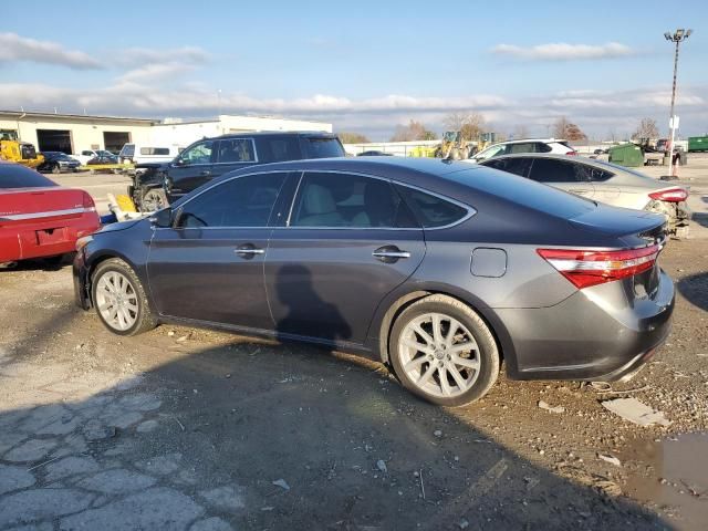
{"label": "blue sky with scattered clouds above the lot", "polygon": [[[681,134],[708,133],[708,4],[666,2],[9,2],[0,20],[0,108],[326,121],[386,139],[450,112],[548,135],[566,116],[596,138],[645,116],[668,127],[681,44]],[[439,8],[438,8],[439,7]],[[439,9],[439,10],[438,10]],[[28,13],[41,13],[28,19]],[[660,15],[659,15],[660,14]]]}

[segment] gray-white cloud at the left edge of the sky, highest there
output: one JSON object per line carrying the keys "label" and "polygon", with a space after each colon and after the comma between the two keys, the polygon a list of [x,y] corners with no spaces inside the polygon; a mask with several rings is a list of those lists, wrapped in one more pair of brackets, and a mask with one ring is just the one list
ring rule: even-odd
{"label": "gray-white cloud at the left edge of the sky, highest there", "polygon": [[0,33],[0,63],[31,61],[58,64],[76,70],[102,69],[102,64],[87,53],[66,50],[61,44],[20,37],[17,33]]}

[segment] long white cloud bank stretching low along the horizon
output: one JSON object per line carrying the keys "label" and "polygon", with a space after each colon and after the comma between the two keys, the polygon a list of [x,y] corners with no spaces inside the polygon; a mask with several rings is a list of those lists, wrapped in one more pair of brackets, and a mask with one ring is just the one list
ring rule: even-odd
{"label": "long white cloud bank stretching low along the horizon", "polygon": [[[153,69],[153,70],[150,70]],[[664,88],[634,91],[565,91],[537,97],[509,100],[496,95],[472,94],[458,97],[418,97],[386,95],[355,100],[315,94],[300,98],[259,98],[223,92],[201,83],[168,84],[160,77],[170,72],[165,65],[142,69],[140,75],[122,79],[103,88],[61,88],[44,84],[2,84],[0,102],[4,108],[60,113],[107,114],[123,116],[212,117],[219,110],[231,114],[268,114],[332,122],[335,129],[367,133],[374,139],[391,136],[396,124],[418,119],[434,131],[442,131],[444,117],[454,111],[481,112],[491,128],[509,133],[517,125],[530,134],[545,136],[558,117],[566,116],[590,135],[603,136],[610,129],[629,133],[643,117],[666,122],[670,94]],[[136,69],[134,72],[137,72]],[[708,119],[706,86],[684,86],[677,95],[681,133],[699,134]],[[694,131],[695,129],[695,131]],[[693,131],[693,133],[691,133]]]}

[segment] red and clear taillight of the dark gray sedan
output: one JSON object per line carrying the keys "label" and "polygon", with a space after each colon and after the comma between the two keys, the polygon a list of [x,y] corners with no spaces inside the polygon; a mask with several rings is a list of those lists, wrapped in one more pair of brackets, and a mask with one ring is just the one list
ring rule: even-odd
{"label": "red and clear taillight of the dark gray sedan", "polygon": [[621,251],[538,249],[537,252],[582,290],[652,269],[660,250],[659,246],[650,246]]}

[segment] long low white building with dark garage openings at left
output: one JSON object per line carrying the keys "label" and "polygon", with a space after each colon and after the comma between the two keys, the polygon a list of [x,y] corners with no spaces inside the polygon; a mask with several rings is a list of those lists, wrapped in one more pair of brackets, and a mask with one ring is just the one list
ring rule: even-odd
{"label": "long low white building with dark garage openings at left", "polygon": [[217,119],[183,122],[76,114],[0,111],[0,137],[33,144],[40,152],[76,154],[84,149],[118,152],[124,144],[187,147],[205,136],[248,131],[323,131],[332,124],[270,116],[219,115]]}

